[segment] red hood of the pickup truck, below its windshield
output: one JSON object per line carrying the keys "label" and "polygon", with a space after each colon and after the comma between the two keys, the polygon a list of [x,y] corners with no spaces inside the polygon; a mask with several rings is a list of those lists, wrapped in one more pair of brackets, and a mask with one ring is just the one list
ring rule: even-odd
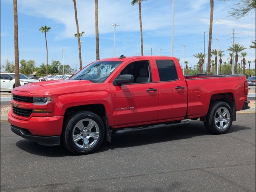
{"label": "red hood of the pickup truck, below its windshield", "polygon": [[30,92],[30,94],[66,94],[96,90],[98,84],[87,80],[51,80],[25,84],[14,88],[16,91]]}

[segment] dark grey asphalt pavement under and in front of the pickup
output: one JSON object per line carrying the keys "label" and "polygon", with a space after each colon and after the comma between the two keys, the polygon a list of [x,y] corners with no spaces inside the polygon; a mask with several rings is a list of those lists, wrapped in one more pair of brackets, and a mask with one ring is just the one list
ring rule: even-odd
{"label": "dark grey asphalt pavement under and in front of the pickup", "polygon": [[1,191],[255,191],[255,113],[223,135],[200,121],[118,133],[84,156],[24,140],[8,122],[0,131]]}

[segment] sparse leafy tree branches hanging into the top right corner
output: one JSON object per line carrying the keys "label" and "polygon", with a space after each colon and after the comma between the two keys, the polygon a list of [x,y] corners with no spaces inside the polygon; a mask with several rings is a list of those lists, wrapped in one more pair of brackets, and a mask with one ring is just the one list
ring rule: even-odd
{"label": "sparse leafy tree branches hanging into the top right corner", "polygon": [[230,16],[233,16],[236,19],[240,19],[248,15],[253,10],[255,11],[255,0],[240,0],[240,2],[234,4],[234,7],[231,9],[232,11],[229,11]]}

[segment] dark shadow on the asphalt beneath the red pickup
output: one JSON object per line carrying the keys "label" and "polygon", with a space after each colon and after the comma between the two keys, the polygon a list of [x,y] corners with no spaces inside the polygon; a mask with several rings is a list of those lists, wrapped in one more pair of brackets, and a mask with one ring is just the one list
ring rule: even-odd
{"label": "dark shadow on the asphalt beneath the red pickup", "polygon": [[[250,130],[250,127],[232,125],[230,130],[226,133],[238,132],[240,130]],[[102,146],[94,152],[100,153],[107,150],[114,150],[115,148],[128,148],[132,146],[142,146],[147,144],[154,144],[160,142],[168,142],[172,140],[182,140],[201,136],[216,136],[211,135],[200,121],[193,121],[186,126],[175,128],[157,128],[149,130],[120,130],[116,134],[112,134],[112,142],[104,141]],[[218,135],[217,135],[218,136]],[[47,157],[64,157],[76,156],[65,150],[63,146],[41,146],[35,142],[28,140],[20,140],[16,146],[30,154]]]}

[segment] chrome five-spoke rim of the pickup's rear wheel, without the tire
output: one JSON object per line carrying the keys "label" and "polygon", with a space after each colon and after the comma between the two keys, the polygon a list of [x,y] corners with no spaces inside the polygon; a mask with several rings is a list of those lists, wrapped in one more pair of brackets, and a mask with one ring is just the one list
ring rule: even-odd
{"label": "chrome five-spoke rim of the pickup's rear wheel, without the tire", "polygon": [[230,112],[226,107],[220,107],[215,113],[214,122],[218,129],[224,130],[230,124]]}

